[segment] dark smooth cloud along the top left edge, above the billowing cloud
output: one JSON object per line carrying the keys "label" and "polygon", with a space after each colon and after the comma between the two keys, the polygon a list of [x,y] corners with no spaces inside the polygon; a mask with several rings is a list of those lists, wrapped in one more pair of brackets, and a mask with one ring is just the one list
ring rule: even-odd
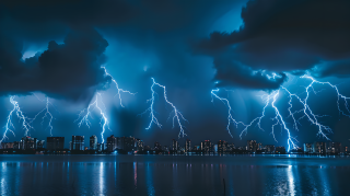
{"label": "dark smooth cloud along the top left edge, above the billowing cloud", "polygon": [[0,13],[3,32],[36,43],[62,37],[71,27],[115,25],[138,16],[124,0],[4,0]]}

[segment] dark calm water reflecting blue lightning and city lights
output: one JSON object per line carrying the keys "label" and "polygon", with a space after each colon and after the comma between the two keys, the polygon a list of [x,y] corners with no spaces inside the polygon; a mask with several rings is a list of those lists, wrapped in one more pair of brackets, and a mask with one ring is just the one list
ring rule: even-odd
{"label": "dark calm water reflecting blue lightning and city lights", "polygon": [[0,155],[0,194],[349,195],[350,158]]}

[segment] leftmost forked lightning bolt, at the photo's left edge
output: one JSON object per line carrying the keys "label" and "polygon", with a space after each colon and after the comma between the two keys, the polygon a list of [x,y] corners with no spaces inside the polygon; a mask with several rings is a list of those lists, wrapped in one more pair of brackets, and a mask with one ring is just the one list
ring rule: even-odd
{"label": "leftmost forked lightning bolt, at the photo's left edge", "polygon": [[24,135],[27,136],[28,131],[33,129],[31,126],[31,119],[26,116],[24,116],[23,112],[21,111],[21,107],[19,105],[19,102],[14,101],[14,96],[10,96],[10,102],[13,105],[12,111],[9,113],[8,118],[7,118],[7,124],[4,126],[4,132],[2,135],[2,139],[0,140],[0,143],[4,140],[8,139],[7,132],[10,131],[15,136],[14,134],[14,125],[12,123],[12,115],[15,113],[20,122],[22,120],[22,128],[25,130]]}

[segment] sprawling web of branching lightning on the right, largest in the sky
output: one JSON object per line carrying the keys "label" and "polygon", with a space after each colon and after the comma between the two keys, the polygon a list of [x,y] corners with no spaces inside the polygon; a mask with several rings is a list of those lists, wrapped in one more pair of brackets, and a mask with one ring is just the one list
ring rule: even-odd
{"label": "sprawling web of branching lightning on the right, largest in the sky", "polygon": [[[272,77],[269,77],[269,78],[275,78],[275,76]],[[289,107],[288,107],[288,112],[289,112],[289,116],[288,117],[291,117],[292,118],[292,122],[293,122],[293,128],[295,130],[299,130],[299,126],[298,125],[301,125],[300,123],[300,119],[302,118],[307,118],[307,120],[312,124],[312,125],[315,125],[317,128],[318,128],[318,132],[317,132],[317,136],[322,136],[324,137],[325,139],[327,140],[330,140],[327,135],[328,134],[331,134],[332,130],[329,126],[326,126],[326,125],[323,125],[318,118],[320,117],[325,117],[325,116],[328,116],[328,115],[317,115],[317,114],[314,114],[314,112],[312,111],[312,108],[310,107],[310,105],[307,104],[308,102],[308,97],[310,97],[310,92],[313,92],[315,94],[317,94],[318,92],[316,92],[314,90],[314,84],[317,83],[317,84],[323,84],[323,85],[329,85],[331,87],[332,89],[336,90],[337,92],[337,107],[338,107],[338,111],[339,111],[339,114],[343,115],[343,116],[347,116],[347,117],[350,117],[350,108],[349,108],[349,103],[348,103],[348,100],[350,97],[348,96],[345,96],[343,94],[339,93],[339,90],[337,88],[337,85],[334,85],[331,84],[330,82],[320,82],[320,81],[317,81],[315,80],[314,78],[310,77],[310,76],[302,76],[300,78],[303,78],[303,79],[308,79],[311,80],[312,82],[305,88],[305,93],[306,93],[306,96],[305,99],[302,99],[300,97],[298,94],[294,94],[294,93],[291,93],[287,88],[284,87],[280,87],[280,90],[276,90],[273,91],[272,93],[268,94],[268,95],[262,95],[261,99],[265,101],[265,106],[262,108],[262,115],[259,116],[259,117],[256,117],[254,118],[249,124],[244,124],[243,122],[237,122],[233,118],[233,111],[232,111],[232,107],[230,106],[230,102],[228,99],[224,99],[224,97],[221,97],[219,96],[217,93],[219,92],[219,89],[215,89],[215,90],[212,90],[211,91],[211,94],[212,94],[212,97],[217,97],[218,100],[222,101],[226,106],[228,106],[228,112],[229,112],[229,115],[228,115],[228,119],[229,119],[229,123],[228,123],[228,127],[226,129],[229,130],[229,134],[230,136],[232,137],[232,134],[230,131],[230,126],[231,126],[231,123],[233,123],[236,128],[238,128],[238,125],[242,125],[244,127],[244,129],[242,130],[240,137],[242,139],[242,135],[243,134],[247,134],[247,129],[253,126],[255,123],[256,123],[256,126],[259,127],[259,129],[264,130],[260,126],[260,123],[261,123],[261,119],[265,117],[265,111],[267,108],[267,106],[269,104],[271,104],[271,107],[275,109],[275,117],[272,118],[272,120],[275,120],[276,123],[272,125],[271,127],[271,135],[273,136],[273,139],[276,140],[276,137],[275,137],[275,127],[277,125],[280,125],[282,129],[284,129],[287,132],[288,132],[288,151],[290,151],[290,149],[296,149],[298,146],[296,146],[296,138],[295,137],[292,137],[291,136],[291,131],[290,129],[287,127],[287,124],[281,115],[281,113],[279,112],[278,107],[276,106],[276,101],[280,94],[280,91],[283,90],[287,92],[288,96],[289,96]],[[292,112],[292,107],[293,107],[293,100],[296,100],[300,104],[302,104],[302,109],[298,109],[298,111],[294,111]],[[343,111],[340,106],[340,101],[343,101],[345,102],[345,108],[346,111]],[[211,100],[211,102],[213,102],[213,100]],[[295,115],[296,114],[302,114],[302,117],[300,118],[296,118]],[[277,140],[276,140],[277,141]]]}

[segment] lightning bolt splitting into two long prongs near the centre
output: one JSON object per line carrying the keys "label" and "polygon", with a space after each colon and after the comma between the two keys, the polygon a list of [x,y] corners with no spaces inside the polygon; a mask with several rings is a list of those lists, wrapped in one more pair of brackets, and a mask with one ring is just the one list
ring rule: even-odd
{"label": "lightning bolt splitting into two long prongs near the centre", "polygon": [[[152,83],[152,85],[151,85],[152,97],[147,101],[148,103],[151,102],[151,106],[142,113],[142,114],[145,114],[145,113],[149,111],[149,112],[150,112],[150,116],[151,116],[151,122],[150,122],[149,126],[148,126],[145,129],[147,129],[147,130],[150,129],[153,123],[154,123],[158,127],[162,128],[162,125],[159,123],[158,118],[156,118],[155,115],[154,115],[154,113],[155,113],[155,112],[154,112],[154,102],[155,102],[155,96],[154,96],[154,95],[156,94],[156,92],[154,91],[153,88],[154,88],[154,85],[158,85],[158,87],[160,87],[160,88],[163,89],[163,93],[164,93],[163,95],[164,95],[165,102],[173,107],[173,111],[171,112],[170,117],[171,117],[171,115],[174,113],[174,116],[173,116],[173,128],[175,127],[175,120],[176,120],[177,124],[178,124],[178,127],[179,127],[178,138],[187,136],[187,135],[185,134],[185,129],[184,129],[184,126],[183,126],[183,124],[182,124],[182,120],[185,120],[185,122],[187,122],[187,123],[188,123],[188,120],[187,120],[187,119],[183,116],[183,114],[175,107],[175,105],[167,100],[165,85],[161,85],[160,83],[156,83],[155,80],[154,80],[154,78],[152,78],[152,81],[153,81],[153,83]],[[141,115],[142,115],[142,114],[141,114]]]}

